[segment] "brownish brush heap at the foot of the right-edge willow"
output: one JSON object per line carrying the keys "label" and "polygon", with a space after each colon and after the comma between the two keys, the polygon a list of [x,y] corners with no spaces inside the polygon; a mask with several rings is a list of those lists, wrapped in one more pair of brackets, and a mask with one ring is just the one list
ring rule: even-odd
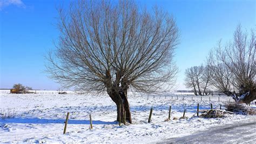
{"label": "brownish brush heap at the foot of the right-edge willow", "polygon": [[255,109],[251,108],[246,104],[227,104],[226,110],[230,112],[234,112],[235,114],[242,114],[242,115],[254,115],[256,114]]}

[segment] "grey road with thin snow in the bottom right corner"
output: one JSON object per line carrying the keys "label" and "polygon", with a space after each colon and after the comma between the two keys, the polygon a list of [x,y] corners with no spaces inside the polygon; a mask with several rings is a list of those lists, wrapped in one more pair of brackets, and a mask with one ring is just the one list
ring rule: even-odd
{"label": "grey road with thin snow in the bottom right corner", "polygon": [[171,138],[159,143],[255,143],[256,119],[218,126],[207,131]]}

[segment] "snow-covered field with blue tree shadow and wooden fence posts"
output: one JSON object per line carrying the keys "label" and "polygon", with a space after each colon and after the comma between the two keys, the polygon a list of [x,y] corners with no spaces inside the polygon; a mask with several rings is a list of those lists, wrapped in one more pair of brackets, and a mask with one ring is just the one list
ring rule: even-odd
{"label": "snow-covered field with blue tree shadow and wooden fence posts", "polygon": [[[15,113],[15,117],[0,118],[0,142],[158,142],[253,117],[193,117],[197,111],[197,104],[200,109],[210,109],[211,104],[213,108],[219,108],[220,104],[224,107],[230,99],[218,96],[204,96],[201,100],[200,96],[187,95],[131,95],[129,102],[133,124],[119,126],[115,121],[116,106],[104,94],[2,93],[0,113],[9,111],[11,114]],[[165,121],[168,118],[169,106],[172,106],[172,119],[180,118],[184,109],[187,109],[185,115],[188,119]],[[251,106],[255,107],[252,104]],[[152,122],[147,123],[151,107]],[[63,134],[67,112],[70,112],[70,118],[66,134]],[[93,129],[89,128],[89,114],[92,115]]]}

